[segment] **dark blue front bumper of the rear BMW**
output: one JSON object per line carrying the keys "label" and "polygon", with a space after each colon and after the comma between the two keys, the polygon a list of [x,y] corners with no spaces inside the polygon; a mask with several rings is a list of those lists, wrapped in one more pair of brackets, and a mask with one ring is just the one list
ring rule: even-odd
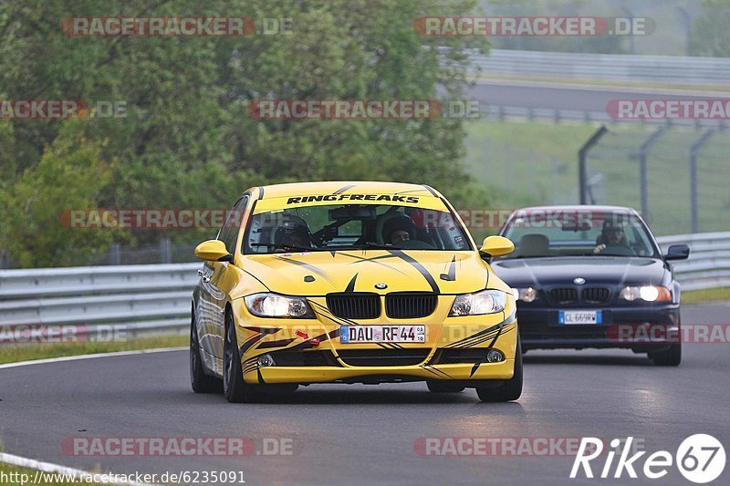
{"label": "dark blue front bumper of the rear BMW", "polygon": [[667,331],[678,331],[680,326],[676,304],[590,308],[601,311],[601,324],[584,326],[558,324],[559,310],[517,305],[523,349],[615,347],[636,352],[658,351],[674,344],[672,333]]}

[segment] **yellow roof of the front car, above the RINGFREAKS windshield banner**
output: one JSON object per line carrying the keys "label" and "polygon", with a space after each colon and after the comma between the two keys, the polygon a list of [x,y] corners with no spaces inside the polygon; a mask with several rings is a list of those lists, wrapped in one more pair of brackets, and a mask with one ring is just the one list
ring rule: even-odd
{"label": "yellow roof of the front car, above the RINGFREAKS windshield banner", "polygon": [[287,184],[273,184],[261,186],[259,199],[286,197],[290,195],[309,196],[318,194],[334,194],[348,191],[365,193],[409,193],[416,196],[441,197],[438,191],[423,184],[408,184],[405,182],[382,181],[314,181],[291,182]]}

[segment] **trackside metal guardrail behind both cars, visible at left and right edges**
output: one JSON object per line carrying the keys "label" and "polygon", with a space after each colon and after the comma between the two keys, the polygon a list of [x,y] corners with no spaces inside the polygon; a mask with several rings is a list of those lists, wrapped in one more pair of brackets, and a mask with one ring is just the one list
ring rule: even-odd
{"label": "trackside metal guardrail behind both cars, visible at left and right edges", "polygon": [[[730,233],[663,236],[690,245],[674,264],[684,290],[730,285]],[[124,265],[0,271],[0,326],[78,326],[92,335],[120,326],[125,336],[184,333],[201,264]],[[27,332],[27,331],[26,331]],[[0,344],[3,343],[0,339]]]}

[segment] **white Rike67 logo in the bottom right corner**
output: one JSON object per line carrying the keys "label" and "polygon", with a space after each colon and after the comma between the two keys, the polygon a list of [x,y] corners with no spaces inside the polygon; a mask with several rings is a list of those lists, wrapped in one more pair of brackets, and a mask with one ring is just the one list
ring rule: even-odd
{"label": "white Rike67 logo in the bottom right corner", "polygon": [[[695,434],[684,439],[674,456],[667,450],[654,452],[643,460],[643,467],[640,467],[640,460],[646,451],[636,452],[630,457],[632,442],[633,437],[629,437],[625,441],[620,439],[610,441],[610,447],[613,450],[609,450],[606,454],[606,461],[600,469],[600,478],[620,479],[626,472],[631,479],[637,479],[639,477],[637,470],[639,470],[644,477],[658,480],[666,476],[669,469],[676,464],[677,469],[686,480],[704,484],[714,481],[725,470],[725,448],[711,435]],[[625,445],[619,449],[621,444]],[[570,479],[579,477],[581,469],[586,478],[593,478],[590,461],[599,458],[603,452],[601,439],[583,438],[580,441],[576,460],[573,462],[573,469],[570,471]],[[619,459],[614,466],[613,461],[617,455]],[[613,470],[612,475],[611,470]]]}

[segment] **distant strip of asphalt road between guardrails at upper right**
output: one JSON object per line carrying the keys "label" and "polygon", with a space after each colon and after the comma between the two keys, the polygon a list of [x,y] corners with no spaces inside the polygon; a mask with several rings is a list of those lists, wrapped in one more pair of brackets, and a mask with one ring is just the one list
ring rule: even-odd
{"label": "distant strip of asphalt road between guardrails at upper right", "polygon": [[673,90],[652,88],[611,88],[530,81],[482,80],[466,91],[465,98],[476,99],[480,103],[495,106],[575,109],[605,113],[606,105],[614,99],[688,99],[725,98],[728,96],[727,93],[712,93],[709,97],[701,95],[702,93],[693,93],[692,91],[678,94]]}

